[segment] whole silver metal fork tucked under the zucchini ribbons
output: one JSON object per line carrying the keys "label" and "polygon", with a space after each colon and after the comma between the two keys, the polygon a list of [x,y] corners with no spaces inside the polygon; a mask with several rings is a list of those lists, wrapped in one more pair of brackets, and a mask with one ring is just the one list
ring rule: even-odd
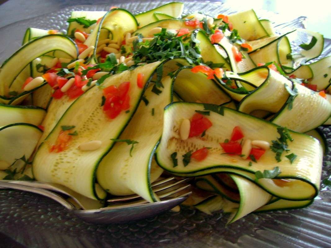
{"label": "whole silver metal fork tucked under the zucchini ribbons", "polygon": [[[74,195],[71,195],[68,192],[70,191],[70,189],[68,190],[68,188],[64,186],[58,188],[59,185],[49,184],[49,183],[0,180],[0,187],[18,189],[18,190],[29,191],[44,195],[46,197],[49,197],[57,201],[68,210],[73,211],[74,214],[76,214],[78,217],[80,217],[81,219],[87,222],[97,223],[97,224],[110,224],[110,223],[122,223],[122,222],[135,221],[135,220],[148,218],[156,214],[159,214],[161,212],[164,212],[166,210],[172,209],[178,204],[185,201],[187,199],[187,196],[191,193],[190,191],[187,190],[190,185],[183,186],[183,183],[186,182],[187,180],[180,180],[178,181],[179,183],[171,183],[171,180],[173,179],[174,178],[161,180],[152,185],[153,187],[155,187],[164,184],[162,186],[163,190],[161,189],[158,190],[159,198],[166,198],[171,195],[175,195],[174,197],[169,197],[169,199],[167,200],[147,203],[147,201],[141,199],[141,200],[135,200],[120,204],[113,204],[114,202],[116,202],[113,201],[112,205],[108,207],[99,208],[99,209],[88,209],[88,210],[85,210],[86,204],[83,204],[82,201],[79,201],[77,199],[78,198],[77,195],[79,194],[73,191]],[[54,192],[51,192],[45,188],[70,196],[72,199],[75,200],[75,202],[79,203],[80,207],[84,206],[84,208],[82,207],[83,210],[78,209],[70,201],[64,199],[62,196]],[[122,199],[118,202],[123,202],[124,201],[123,198],[127,198],[126,199],[127,201],[138,197],[140,196],[131,195],[129,197],[121,197]]]}

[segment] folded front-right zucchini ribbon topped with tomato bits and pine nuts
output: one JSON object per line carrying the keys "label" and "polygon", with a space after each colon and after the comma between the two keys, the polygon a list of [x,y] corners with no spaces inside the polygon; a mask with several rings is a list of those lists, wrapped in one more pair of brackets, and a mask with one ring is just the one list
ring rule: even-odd
{"label": "folded front-right zucchini ribbon topped with tomato bits and pine nuts", "polygon": [[[224,115],[210,111],[208,118],[213,126],[206,131],[204,140],[192,137],[182,141],[176,138],[177,134],[174,134],[173,130],[179,129],[181,120],[191,118],[195,110],[204,111],[205,106],[208,109],[213,108],[200,103],[172,103],[166,107],[163,135],[156,152],[156,160],[163,169],[188,177],[227,172],[242,176],[282,199],[307,200],[315,197],[319,188],[323,156],[322,147],[316,139],[290,131],[293,142],[289,142],[288,148],[291,153],[297,155],[292,164],[284,155],[281,161],[276,163],[275,153],[267,150],[258,163],[249,166],[249,161],[239,156],[221,154],[223,150],[219,143],[231,136],[235,126],[240,126],[246,139],[271,143],[271,140],[276,140],[279,135],[279,126],[233,109],[218,107],[223,109]],[[216,105],[213,106],[217,108]],[[178,166],[173,167],[170,156],[173,152],[177,152],[177,158],[181,158],[189,150],[194,151],[201,147],[211,147],[205,160],[199,162],[191,159],[189,164],[184,166],[182,159],[178,159]],[[255,180],[256,171],[272,170],[275,166],[281,171],[275,178],[290,179],[288,186],[277,186],[271,179]]]}

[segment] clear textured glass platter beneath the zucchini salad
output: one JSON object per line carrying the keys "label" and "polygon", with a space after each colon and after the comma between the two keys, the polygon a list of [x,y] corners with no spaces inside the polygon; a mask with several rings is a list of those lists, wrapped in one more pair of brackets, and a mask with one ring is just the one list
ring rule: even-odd
{"label": "clear textured glass platter beneath the zucchini salad", "polygon": [[[137,14],[165,1],[116,4]],[[108,10],[111,6],[74,6],[59,12],[19,21],[0,29],[0,62],[17,50],[27,27],[65,31],[72,10]],[[221,3],[186,2],[185,13],[202,11],[217,16],[240,11]],[[305,17],[282,16],[256,10],[279,33],[304,27]],[[322,24],[322,23],[321,23]],[[322,57],[331,54],[325,40]],[[321,128],[331,145],[331,130]],[[331,173],[331,154],[324,157],[322,179]],[[321,186],[314,203],[305,209],[250,214],[226,226],[222,212],[207,215],[182,208],[153,218],[120,225],[83,222],[56,202],[36,194],[0,191],[0,231],[27,247],[330,247],[331,191]]]}

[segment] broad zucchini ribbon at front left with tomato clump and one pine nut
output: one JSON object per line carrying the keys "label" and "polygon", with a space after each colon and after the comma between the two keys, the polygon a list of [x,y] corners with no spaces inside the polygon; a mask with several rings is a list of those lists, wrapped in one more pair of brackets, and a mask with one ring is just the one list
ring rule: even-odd
{"label": "broad zucchini ribbon at front left with tomato clump and one pine nut", "polygon": [[[130,121],[141,100],[143,89],[137,86],[137,75],[144,75],[144,86],[150,80],[161,62],[139,66],[108,77],[103,86],[118,86],[131,82],[129,89],[130,111],[122,111],[110,120],[101,106],[103,91],[92,87],[77,98],[63,114],[59,122],[39,146],[33,160],[33,174],[38,181],[58,183],[92,199],[103,199],[106,192],[95,184],[95,172],[102,158],[111,150],[127,123]],[[98,100],[99,99],[99,100]],[[49,110],[50,111],[50,110]],[[62,152],[49,152],[49,147],[56,143],[61,126],[75,126],[68,149]],[[102,145],[97,150],[81,151],[77,147],[91,140],[98,140]]]}

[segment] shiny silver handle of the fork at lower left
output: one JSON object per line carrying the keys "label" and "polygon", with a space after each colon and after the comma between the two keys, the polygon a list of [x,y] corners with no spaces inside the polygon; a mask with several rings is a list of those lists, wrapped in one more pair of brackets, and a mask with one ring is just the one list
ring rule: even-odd
{"label": "shiny silver handle of the fork at lower left", "polygon": [[65,200],[63,197],[61,197],[60,195],[58,195],[56,193],[48,191],[46,189],[34,188],[34,187],[29,187],[29,186],[24,186],[24,185],[11,184],[11,183],[1,182],[1,181],[0,181],[0,187],[18,189],[18,190],[22,190],[22,191],[28,191],[28,192],[40,194],[40,195],[46,196],[48,198],[51,198],[54,201],[57,201],[58,203],[60,203],[62,206],[64,206],[65,208],[67,208],[69,210],[76,209],[70,202]]}

